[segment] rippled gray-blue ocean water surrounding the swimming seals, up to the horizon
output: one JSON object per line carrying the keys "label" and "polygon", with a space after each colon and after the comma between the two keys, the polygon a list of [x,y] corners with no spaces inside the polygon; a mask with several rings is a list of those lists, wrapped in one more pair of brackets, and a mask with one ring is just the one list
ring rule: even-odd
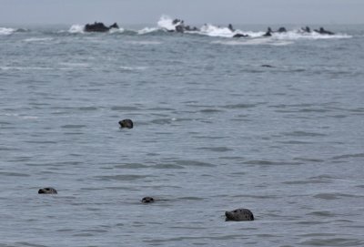
{"label": "rippled gray-blue ocean water surrounding the swimming seals, up to the horizon", "polygon": [[168,21],[0,25],[0,246],[364,246],[364,26]]}

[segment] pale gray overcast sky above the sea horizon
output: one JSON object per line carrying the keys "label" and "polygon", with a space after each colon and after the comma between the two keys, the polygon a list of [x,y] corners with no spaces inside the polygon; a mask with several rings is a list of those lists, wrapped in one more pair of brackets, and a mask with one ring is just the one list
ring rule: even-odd
{"label": "pale gray overcast sky above the sea horizon", "polygon": [[0,24],[364,24],[364,0],[0,0]]}

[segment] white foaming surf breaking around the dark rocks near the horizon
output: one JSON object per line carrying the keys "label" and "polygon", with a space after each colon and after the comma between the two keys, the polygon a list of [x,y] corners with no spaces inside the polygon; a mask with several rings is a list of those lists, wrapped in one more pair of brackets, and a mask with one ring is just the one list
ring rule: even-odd
{"label": "white foaming surf breaking around the dark rocks near the horizon", "polygon": [[[16,29],[11,27],[0,27],[0,36],[9,36],[15,32],[27,31],[26,29]],[[268,43],[268,45],[285,46],[288,41],[295,40],[316,40],[316,39],[339,39],[350,38],[347,34],[335,33],[332,35],[321,34],[316,31],[304,31],[302,28],[294,28],[285,30],[285,32],[271,32],[271,36],[264,36],[266,30],[242,30],[239,28],[234,29],[233,26],[216,26],[213,24],[204,24],[203,26],[188,26],[181,19],[174,19],[168,15],[162,15],[157,21],[157,26],[146,26],[138,30],[127,28],[111,28],[106,34],[123,34],[124,36],[145,36],[145,35],[169,35],[173,33],[197,35],[197,36],[211,36],[221,38],[234,38],[237,42],[225,42],[227,45],[254,45],[257,43]],[[75,24],[68,28],[68,30],[57,31],[58,34],[86,34],[85,25]],[[251,41],[252,39],[262,38],[266,41]],[[245,41],[242,41],[245,40]],[[250,40],[250,41],[248,41]],[[267,41],[268,40],[268,41]],[[33,40],[26,40],[33,41]],[[37,40],[36,40],[37,41]],[[287,41],[287,42],[278,42]],[[222,41],[224,43],[224,41]]]}

